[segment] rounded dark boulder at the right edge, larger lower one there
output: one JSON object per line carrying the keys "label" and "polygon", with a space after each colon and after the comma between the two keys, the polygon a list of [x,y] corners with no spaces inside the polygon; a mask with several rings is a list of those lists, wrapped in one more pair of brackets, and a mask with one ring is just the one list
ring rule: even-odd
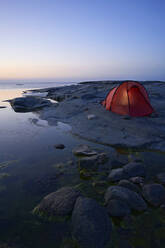
{"label": "rounded dark boulder at the right edge, larger lower one there", "polygon": [[148,184],[143,187],[144,198],[157,207],[165,203],[165,188],[161,184]]}

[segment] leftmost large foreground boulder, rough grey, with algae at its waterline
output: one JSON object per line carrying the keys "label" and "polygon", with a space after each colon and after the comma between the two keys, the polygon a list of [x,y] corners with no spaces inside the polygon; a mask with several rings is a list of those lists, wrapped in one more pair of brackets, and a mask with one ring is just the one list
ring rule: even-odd
{"label": "leftmost large foreground boulder, rough grey, with algae at its waterline", "polygon": [[71,214],[80,192],[72,187],[63,187],[43,198],[34,213],[53,217],[66,217]]}

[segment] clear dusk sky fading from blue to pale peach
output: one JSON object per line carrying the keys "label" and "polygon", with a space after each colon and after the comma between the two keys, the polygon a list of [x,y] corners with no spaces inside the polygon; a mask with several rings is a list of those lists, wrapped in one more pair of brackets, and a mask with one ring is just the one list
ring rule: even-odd
{"label": "clear dusk sky fading from blue to pale peach", "polygon": [[0,80],[165,80],[164,0],[0,0]]}

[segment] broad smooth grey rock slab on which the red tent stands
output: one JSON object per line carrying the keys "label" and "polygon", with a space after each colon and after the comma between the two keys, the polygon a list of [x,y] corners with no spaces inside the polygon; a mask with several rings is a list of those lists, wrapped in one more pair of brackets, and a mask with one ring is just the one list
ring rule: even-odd
{"label": "broad smooth grey rock slab on which the red tent stands", "polygon": [[[165,84],[143,82],[156,115],[141,118],[117,115],[102,107],[100,102],[109,90],[118,84],[119,82],[108,81],[86,82],[33,90],[32,93],[47,92],[46,98],[57,103],[48,102],[45,98],[33,97],[34,100],[30,99],[30,101],[34,104],[30,108],[31,111],[35,111],[44,107],[38,111],[39,118],[47,120],[50,125],[56,125],[58,121],[68,123],[72,127],[72,133],[83,139],[115,147],[147,148],[165,152]],[[19,106],[24,104],[24,110],[30,111],[28,99],[29,96],[24,103],[19,103],[20,98],[12,100],[11,105],[17,111]]]}

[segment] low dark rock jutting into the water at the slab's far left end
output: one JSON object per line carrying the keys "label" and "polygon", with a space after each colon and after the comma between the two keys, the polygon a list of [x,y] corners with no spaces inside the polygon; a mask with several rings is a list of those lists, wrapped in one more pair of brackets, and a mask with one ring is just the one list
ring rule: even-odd
{"label": "low dark rock jutting into the water at the slab's far left end", "polygon": [[30,112],[52,105],[49,100],[34,96],[18,97],[9,102],[15,112]]}

